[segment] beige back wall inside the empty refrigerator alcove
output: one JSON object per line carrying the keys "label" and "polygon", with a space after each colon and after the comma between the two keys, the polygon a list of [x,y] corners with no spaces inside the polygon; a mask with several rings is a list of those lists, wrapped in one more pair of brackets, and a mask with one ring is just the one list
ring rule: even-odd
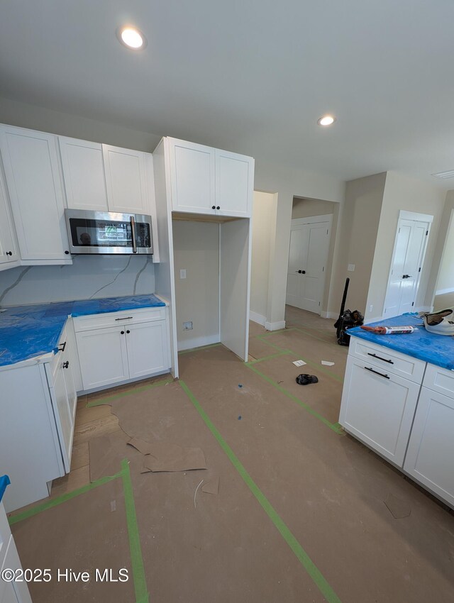
{"label": "beige back wall inside the empty refrigerator alcove", "polygon": [[[219,226],[173,221],[178,348],[219,341]],[[186,270],[181,279],[180,270]],[[192,321],[193,330],[183,331]]]}

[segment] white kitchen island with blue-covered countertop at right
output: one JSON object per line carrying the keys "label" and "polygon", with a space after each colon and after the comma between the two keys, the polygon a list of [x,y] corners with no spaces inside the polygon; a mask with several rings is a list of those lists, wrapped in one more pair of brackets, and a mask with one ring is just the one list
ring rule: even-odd
{"label": "white kitchen island with blue-covered countertop at right", "polygon": [[339,423],[454,508],[454,338],[428,333],[412,314],[371,326],[399,325],[417,330],[348,331]]}

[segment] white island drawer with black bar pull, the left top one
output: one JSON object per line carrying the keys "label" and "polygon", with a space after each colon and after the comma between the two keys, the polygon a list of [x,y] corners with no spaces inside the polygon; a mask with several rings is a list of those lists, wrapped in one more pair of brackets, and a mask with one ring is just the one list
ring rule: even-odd
{"label": "white island drawer with black bar pull, the left top one", "polygon": [[[391,335],[390,337],[400,336]],[[402,335],[402,337],[405,337],[405,335]],[[365,363],[374,363],[377,367],[380,367],[380,370],[385,370],[385,372],[392,373],[392,375],[399,375],[419,384],[423,380],[426,368],[426,363],[423,360],[412,358],[358,337],[350,339],[348,355],[354,356]]]}

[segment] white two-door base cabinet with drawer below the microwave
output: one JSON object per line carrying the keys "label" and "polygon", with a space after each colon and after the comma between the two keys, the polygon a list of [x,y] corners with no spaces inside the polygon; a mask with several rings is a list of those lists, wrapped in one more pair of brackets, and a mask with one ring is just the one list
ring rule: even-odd
{"label": "white two-door base cabinet with drawer below the microwave", "polygon": [[128,314],[74,319],[84,391],[169,370],[167,309]]}

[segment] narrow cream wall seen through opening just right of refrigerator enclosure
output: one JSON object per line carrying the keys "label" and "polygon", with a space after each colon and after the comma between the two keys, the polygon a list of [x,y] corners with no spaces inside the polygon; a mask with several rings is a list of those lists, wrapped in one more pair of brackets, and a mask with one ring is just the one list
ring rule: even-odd
{"label": "narrow cream wall seen through opening just right of refrigerator enclosure", "polygon": [[275,247],[277,195],[254,192],[253,250],[250,270],[250,311],[257,321],[268,319],[270,257]]}

